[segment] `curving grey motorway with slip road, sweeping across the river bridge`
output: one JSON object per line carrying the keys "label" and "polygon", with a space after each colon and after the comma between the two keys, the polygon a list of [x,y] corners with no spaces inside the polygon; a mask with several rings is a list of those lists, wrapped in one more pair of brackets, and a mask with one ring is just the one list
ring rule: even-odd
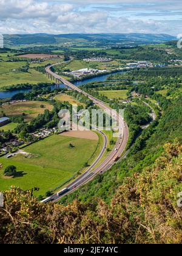
{"label": "curving grey motorway with slip road, sweeping across the river bridge", "polygon": [[[99,108],[102,108],[106,113],[111,112],[112,109],[108,105],[106,105],[103,101],[100,101],[99,99],[94,98],[90,94],[88,94],[85,91],[81,90],[80,88],[76,87],[72,83],[68,82],[63,77],[59,76],[58,74],[53,73],[51,71],[51,68],[58,64],[59,63],[56,63],[51,66],[47,66],[47,68],[45,68],[45,71],[48,74],[50,74],[51,76],[55,77],[55,79],[58,79],[59,81],[61,81],[67,87],[72,88],[72,90],[78,91],[78,93],[82,93],[85,96],[87,96],[87,98],[89,98]],[[96,175],[103,174],[104,172],[108,171],[113,165],[115,165],[116,159],[120,158],[121,155],[123,154],[124,150],[126,149],[127,141],[129,138],[129,129],[128,129],[128,126],[127,126],[126,122],[124,121],[124,119],[115,110],[112,110],[112,113],[113,113],[113,117],[115,117],[117,119],[118,124],[120,126],[120,130],[122,130],[122,132],[119,134],[118,140],[116,141],[116,144],[115,144],[115,147],[110,152],[110,154],[106,158],[104,158],[102,163],[100,163],[98,165],[98,163],[100,162],[100,160],[103,157],[104,152],[107,148],[107,137],[103,132],[100,131],[101,135],[104,138],[104,146],[103,146],[103,149],[102,149],[101,153],[99,154],[98,158],[96,158],[95,162],[89,167],[89,169],[87,169],[86,172],[84,172],[81,176],[76,178],[72,183],[70,183],[67,186],[68,191],[66,191],[66,193],[61,194],[60,196],[58,196],[57,193],[53,194],[53,196],[48,197],[47,199],[45,199],[42,202],[59,201],[62,196],[66,196],[66,194],[73,193],[73,191],[77,190],[79,187],[83,186],[85,183],[92,180]]]}

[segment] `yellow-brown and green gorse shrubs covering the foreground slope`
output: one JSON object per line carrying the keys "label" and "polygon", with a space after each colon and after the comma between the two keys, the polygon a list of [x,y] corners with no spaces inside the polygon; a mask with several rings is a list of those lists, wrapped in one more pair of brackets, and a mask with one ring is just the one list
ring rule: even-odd
{"label": "yellow-brown and green gorse shrubs covering the foreground slope", "polygon": [[182,147],[164,149],[154,166],[124,180],[110,205],[41,204],[12,187],[0,208],[0,243],[182,243]]}

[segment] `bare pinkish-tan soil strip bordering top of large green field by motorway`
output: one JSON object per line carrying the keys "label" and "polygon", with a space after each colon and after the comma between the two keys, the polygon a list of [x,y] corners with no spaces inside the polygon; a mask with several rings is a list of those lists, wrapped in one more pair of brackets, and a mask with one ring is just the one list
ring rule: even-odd
{"label": "bare pinkish-tan soil strip bordering top of large green field by motorway", "polygon": [[73,137],[73,138],[83,138],[83,139],[87,139],[87,140],[98,141],[98,135],[95,132],[92,132],[91,130],[85,130],[85,131],[70,130],[70,132],[61,133],[61,136]]}

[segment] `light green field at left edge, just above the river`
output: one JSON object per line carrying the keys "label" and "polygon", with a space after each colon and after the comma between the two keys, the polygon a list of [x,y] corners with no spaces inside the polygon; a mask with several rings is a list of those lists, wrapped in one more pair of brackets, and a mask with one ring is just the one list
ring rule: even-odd
{"label": "light green field at left edge, just above the river", "polygon": [[0,62],[0,87],[16,84],[50,82],[45,74],[39,73],[35,69],[29,69],[28,73],[17,70],[25,65],[26,62]]}

